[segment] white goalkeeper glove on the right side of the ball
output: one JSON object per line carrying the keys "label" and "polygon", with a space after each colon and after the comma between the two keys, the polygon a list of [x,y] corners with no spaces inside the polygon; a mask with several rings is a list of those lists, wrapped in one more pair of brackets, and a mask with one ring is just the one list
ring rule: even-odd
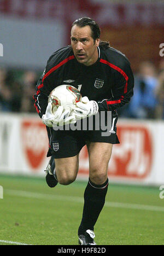
{"label": "white goalkeeper glove on the right side of the ball", "polygon": [[91,115],[96,115],[98,113],[98,104],[96,101],[90,101],[86,96],[78,102],[72,115],[76,120],[84,119],[90,117]]}

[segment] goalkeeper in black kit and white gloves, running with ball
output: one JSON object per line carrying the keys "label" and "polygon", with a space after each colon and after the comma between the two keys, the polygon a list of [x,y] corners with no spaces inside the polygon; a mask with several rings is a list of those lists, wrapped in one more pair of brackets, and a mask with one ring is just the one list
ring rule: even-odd
{"label": "goalkeeper in black kit and white gloves, running with ball", "polygon": [[[90,18],[75,20],[71,29],[71,45],[57,50],[49,58],[33,96],[34,106],[42,118],[49,137],[51,156],[46,168],[49,187],[57,183],[68,185],[75,181],[79,167],[79,152],[87,146],[89,153],[89,182],[84,193],[83,217],[78,229],[80,245],[96,245],[94,226],[104,206],[108,189],[108,163],[116,135],[118,114],[133,95],[134,79],[130,63],[120,51],[100,39],[98,24]],[[83,96],[73,110],[62,106],[52,112],[48,103],[50,92],[59,85],[77,88]],[[75,124],[101,112],[112,113],[110,136],[99,130],[53,129]],[[101,117],[101,115],[99,115]],[[93,119],[93,120],[96,120]],[[104,123],[106,123],[106,118]],[[55,159],[55,161],[54,161]]]}

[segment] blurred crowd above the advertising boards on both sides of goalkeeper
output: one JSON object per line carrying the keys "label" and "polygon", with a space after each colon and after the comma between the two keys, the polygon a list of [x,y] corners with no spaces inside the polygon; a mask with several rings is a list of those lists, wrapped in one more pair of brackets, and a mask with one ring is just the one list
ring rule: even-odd
{"label": "blurred crowd above the advertising boards on both sides of goalkeeper", "polygon": [[[0,112],[36,113],[32,96],[40,74],[15,72],[0,67]],[[164,120],[164,60],[159,68],[150,61],[140,63],[134,73],[134,95],[129,104],[119,110],[121,118]]]}

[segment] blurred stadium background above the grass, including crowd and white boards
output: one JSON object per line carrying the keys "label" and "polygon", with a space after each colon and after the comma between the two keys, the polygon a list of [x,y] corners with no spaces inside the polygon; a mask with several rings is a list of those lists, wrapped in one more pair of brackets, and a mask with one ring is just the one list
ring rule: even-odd
{"label": "blurred stadium background above the grass, including crowd and white boards", "polygon": [[[121,144],[110,180],[164,184],[163,11],[158,1],[1,1],[0,171],[43,175],[48,143],[33,107],[34,85],[48,57],[70,43],[72,21],[89,16],[101,26],[101,39],[126,54],[136,77],[133,100],[119,113]],[[80,158],[78,177],[87,177],[85,148]]]}

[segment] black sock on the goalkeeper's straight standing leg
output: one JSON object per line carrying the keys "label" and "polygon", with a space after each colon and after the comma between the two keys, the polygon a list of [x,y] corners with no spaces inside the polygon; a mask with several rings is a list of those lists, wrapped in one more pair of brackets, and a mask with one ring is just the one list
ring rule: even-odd
{"label": "black sock on the goalkeeper's straight standing leg", "polygon": [[78,235],[83,235],[87,229],[94,230],[99,213],[105,203],[107,190],[108,179],[102,185],[96,185],[89,179],[84,193],[83,217],[79,226]]}

